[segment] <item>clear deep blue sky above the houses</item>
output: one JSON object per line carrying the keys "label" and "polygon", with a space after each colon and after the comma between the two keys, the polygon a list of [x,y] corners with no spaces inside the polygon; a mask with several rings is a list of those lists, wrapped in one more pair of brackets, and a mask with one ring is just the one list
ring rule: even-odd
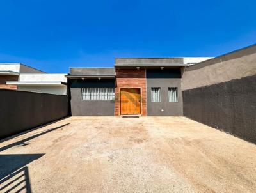
{"label": "clear deep blue sky above the houses", "polygon": [[115,57],[218,56],[256,41],[256,1],[0,1],[0,62],[50,73]]}

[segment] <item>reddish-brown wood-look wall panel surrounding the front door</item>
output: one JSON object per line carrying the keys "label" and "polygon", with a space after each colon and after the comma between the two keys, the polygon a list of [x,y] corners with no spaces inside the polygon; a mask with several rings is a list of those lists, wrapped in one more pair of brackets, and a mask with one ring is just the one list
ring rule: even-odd
{"label": "reddish-brown wood-look wall panel surrounding the front door", "polygon": [[120,89],[141,88],[141,115],[147,116],[145,69],[116,69],[115,116],[120,116]]}

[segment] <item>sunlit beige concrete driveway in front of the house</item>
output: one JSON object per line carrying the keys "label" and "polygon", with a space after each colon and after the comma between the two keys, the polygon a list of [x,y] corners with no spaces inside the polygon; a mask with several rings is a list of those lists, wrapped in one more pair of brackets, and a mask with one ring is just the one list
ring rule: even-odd
{"label": "sunlit beige concrete driveway in front of the house", "polygon": [[256,146],[182,117],[73,117],[2,141],[0,172],[0,192],[256,192]]}

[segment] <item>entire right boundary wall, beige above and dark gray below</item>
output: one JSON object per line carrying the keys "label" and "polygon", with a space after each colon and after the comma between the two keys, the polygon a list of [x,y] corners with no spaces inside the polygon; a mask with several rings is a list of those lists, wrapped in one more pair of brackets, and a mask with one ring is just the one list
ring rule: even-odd
{"label": "entire right boundary wall, beige above and dark gray below", "polygon": [[186,68],[184,116],[256,143],[256,45]]}

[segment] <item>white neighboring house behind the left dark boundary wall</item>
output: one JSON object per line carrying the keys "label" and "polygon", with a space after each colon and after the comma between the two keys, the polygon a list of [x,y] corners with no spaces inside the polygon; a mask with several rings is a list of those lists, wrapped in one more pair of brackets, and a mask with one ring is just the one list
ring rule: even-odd
{"label": "white neighboring house behind the left dark boundary wall", "polygon": [[0,64],[0,88],[67,95],[64,73],[45,73],[30,66]]}

